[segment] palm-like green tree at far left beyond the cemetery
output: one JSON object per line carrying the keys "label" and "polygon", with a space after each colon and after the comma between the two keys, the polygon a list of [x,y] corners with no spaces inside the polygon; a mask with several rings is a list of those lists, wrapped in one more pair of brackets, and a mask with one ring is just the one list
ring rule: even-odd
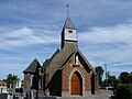
{"label": "palm-like green tree at far left beyond the cemetery", "polygon": [[7,79],[4,79],[4,81],[7,82],[7,87],[8,88],[13,87],[13,81],[18,79],[19,79],[18,76],[14,74],[7,75]]}

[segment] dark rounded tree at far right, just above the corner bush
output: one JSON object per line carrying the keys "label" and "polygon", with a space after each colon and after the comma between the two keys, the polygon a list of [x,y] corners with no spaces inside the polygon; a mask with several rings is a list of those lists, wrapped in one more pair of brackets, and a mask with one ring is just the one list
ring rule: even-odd
{"label": "dark rounded tree at far right, just above the corner bush", "polygon": [[129,84],[130,82],[129,73],[127,72],[121,73],[119,79],[121,80],[122,84]]}

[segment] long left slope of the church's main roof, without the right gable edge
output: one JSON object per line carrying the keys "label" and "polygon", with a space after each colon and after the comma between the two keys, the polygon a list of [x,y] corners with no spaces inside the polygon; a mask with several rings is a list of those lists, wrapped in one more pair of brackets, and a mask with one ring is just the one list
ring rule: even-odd
{"label": "long left slope of the church's main roof, without the right gable edge", "polygon": [[74,52],[74,48],[62,48],[59,53],[57,53],[55,56],[53,55],[50,59],[45,61],[45,63],[43,64],[43,69],[46,69],[46,72],[50,73],[50,79],[55,74],[55,72],[63,66],[63,64]]}

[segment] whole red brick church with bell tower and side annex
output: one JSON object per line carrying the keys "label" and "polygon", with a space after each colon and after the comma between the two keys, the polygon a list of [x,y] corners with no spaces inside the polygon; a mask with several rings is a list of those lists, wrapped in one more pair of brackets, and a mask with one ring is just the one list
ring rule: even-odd
{"label": "whole red brick church with bell tower and side annex", "polygon": [[[23,72],[31,77],[31,88],[50,96],[88,96],[98,88],[98,76],[78,48],[77,30],[68,16],[62,30],[62,47],[41,66],[34,59]],[[41,69],[41,76],[40,75]],[[41,78],[40,78],[41,77]],[[41,79],[41,82],[38,82]]]}

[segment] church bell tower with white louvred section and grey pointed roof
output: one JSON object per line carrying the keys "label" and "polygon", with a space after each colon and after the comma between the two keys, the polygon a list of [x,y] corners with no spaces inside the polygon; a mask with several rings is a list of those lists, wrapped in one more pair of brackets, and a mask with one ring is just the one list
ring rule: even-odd
{"label": "church bell tower with white louvred section and grey pointed roof", "polygon": [[77,48],[77,30],[69,16],[66,19],[62,31],[62,48],[64,47]]}

